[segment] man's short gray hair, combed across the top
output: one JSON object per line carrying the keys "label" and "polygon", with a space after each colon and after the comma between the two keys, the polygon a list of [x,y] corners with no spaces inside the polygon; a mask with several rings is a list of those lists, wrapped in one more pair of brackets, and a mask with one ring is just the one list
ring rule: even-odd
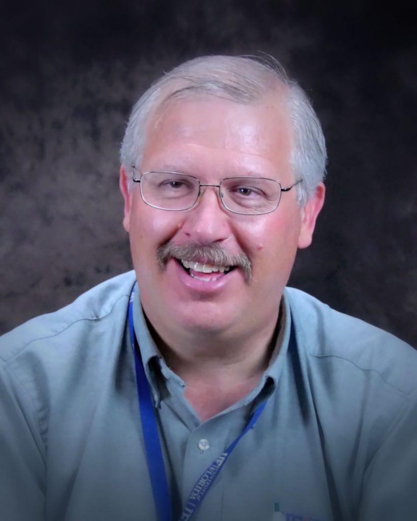
{"label": "man's short gray hair, combed across the top", "polygon": [[120,151],[122,165],[127,169],[141,165],[147,123],[167,101],[203,94],[238,103],[256,103],[276,91],[277,82],[288,90],[287,106],[295,136],[290,164],[295,179],[302,179],[297,185],[297,201],[304,206],[325,176],[324,135],[306,93],[272,57],[203,56],[166,73],[133,107]]}

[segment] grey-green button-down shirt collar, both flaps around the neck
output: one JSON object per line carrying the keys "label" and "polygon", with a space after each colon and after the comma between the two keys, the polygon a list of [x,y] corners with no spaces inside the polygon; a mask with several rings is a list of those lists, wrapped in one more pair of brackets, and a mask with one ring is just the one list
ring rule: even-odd
{"label": "grey-green button-down shirt collar, both flaps around the neck", "polygon": [[[142,363],[145,368],[145,374],[150,384],[156,405],[160,403],[160,393],[158,389],[158,378],[161,376],[165,379],[178,380],[178,383],[184,387],[183,380],[176,375],[165,363],[165,359],[158,350],[154,339],[152,338],[146,318],[142,309],[140,300],[140,291],[135,283],[133,296],[133,326],[136,334],[137,342],[140,346]],[[289,335],[291,330],[291,314],[289,311],[288,297],[286,290],[280,306],[280,316],[277,323],[278,333],[276,336],[275,347],[272,352],[271,361],[264,372],[259,384],[245,398],[245,403],[266,398],[275,389],[279,380],[284,359],[288,350]]]}

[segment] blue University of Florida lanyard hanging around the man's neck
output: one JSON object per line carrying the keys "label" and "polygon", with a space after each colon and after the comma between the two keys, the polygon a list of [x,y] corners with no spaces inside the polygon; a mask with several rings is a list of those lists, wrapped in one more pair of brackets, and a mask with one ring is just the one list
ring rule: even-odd
{"label": "blue University of Florida lanyard hanging around the man's neck", "polygon": [[[168,488],[167,474],[163,464],[162,448],[159,439],[154,402],[150,394],[150,386],[146,378],[145,368],[142,363],[142,356],[133,327],[133,295],[134,287],[129,299],[129,331],[135,358],[137,396],[139,401],[139,411],[141,414],[148,471],[158,519],[159,521],[172,521],[171,499]],[[264,400],[257,407],[255,412],[249,418],[248,424],[242,433],[228,446],[228,448],[222,454],[220,454],[218,458],[216,458],[216,460],[213,461],[213,463],[197,479],[191,493],[189,494],[187,503],[179,521],[189,521],[189,519],[191,519],[191,517],[194,515],[198,505],[201,503],[201,501],[203,501],[205,495],[209,491],[214,480],[219,475],[220,470],[223,468],[233,449],[239,440],[245,436],[246,432],[254,427],[266,403],[267,400]]]}

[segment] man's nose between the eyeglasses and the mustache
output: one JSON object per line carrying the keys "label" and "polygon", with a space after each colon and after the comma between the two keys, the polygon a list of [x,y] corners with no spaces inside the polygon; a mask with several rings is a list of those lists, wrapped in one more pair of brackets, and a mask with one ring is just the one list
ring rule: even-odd
{"label": "man's nose between the eyeglasses and the mustache", "polygon": [[182,231],[188,239],[209,245],[227,239],[231,233],[230,215],[220,202],[216,185],[201,185],[196,206],[184,212]]}

